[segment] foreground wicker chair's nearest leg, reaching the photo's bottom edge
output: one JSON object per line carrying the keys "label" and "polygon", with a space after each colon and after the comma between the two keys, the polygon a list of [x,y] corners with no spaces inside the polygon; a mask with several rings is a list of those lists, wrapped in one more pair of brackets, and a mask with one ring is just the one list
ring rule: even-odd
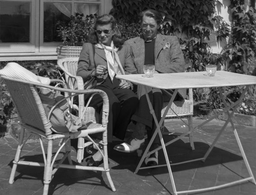
{"label": "foreground wicker chair's nearest leg, reaching the photo's bottom edge", "polygon": [[44,192],[43,195],[48,195],[49,183],[52,181],[52,140],[48,140],[47,160],[44,165]]}

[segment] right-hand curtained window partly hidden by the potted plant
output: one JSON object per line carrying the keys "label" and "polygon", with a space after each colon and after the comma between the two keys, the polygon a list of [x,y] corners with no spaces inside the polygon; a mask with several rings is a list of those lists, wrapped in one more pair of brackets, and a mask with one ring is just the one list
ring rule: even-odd
{"label": "right-hand curtained window partly hidden by the potted plant", "polygon": [[[83,3],[84,2],[84,3]],[[57,36],[56,23],[69,20],[76,12],[84,15],[100,14],[102,3],[99,0],[41,0],[41,31],[40,52],[55,52],[61,44]]]}

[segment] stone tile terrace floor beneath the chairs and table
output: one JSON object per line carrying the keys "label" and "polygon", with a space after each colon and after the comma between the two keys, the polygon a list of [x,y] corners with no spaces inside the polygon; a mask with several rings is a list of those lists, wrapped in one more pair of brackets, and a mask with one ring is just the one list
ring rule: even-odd
{"label": "stone tile terrace floor beneath the chairs and table", "polygon": [[[193,120],[198,125],[204,120]],[[183,138],[167,146],[169,160],[172,163],[181,160],[201,158],[224,124],[222,120],[212,120],[194,133],[195,150],[189,147],[188,138]],[[180,120],[166,120],[165,126],[170,132],[186,130]],[[129,126],[132,129],[132,125]],[[256,128],[236,125],[241,143],[247,155],[254,177],[256,173]],[[168,141],[174,136],[164,135]],[[105,173],[59,169],[49,187],[49,195],[173,195],[172,185],[166,166],[154,169],[142,169],[134,174],[140,158],[137,153],[122,153],[112,148],[122,141],[108,144],[109,166],[116,192],[112,192]],[[54,142],[58,146],[58,142]],[[15,183],[9,184],[12,161],[15,157],[17,140],[10,135],[0,138],[0,195],[41,195],[43,192],[44,169],[33,166],[18,166]],[[37,140],[26,144],[22,153],[24,159],[41,161],[41,148]],[[72,152],[75,163],[76,152]],[[160,163],[164,163],[163,152],[160,152]],[[248,177],[247,169],[242,161],[235,136],[230,124],[221,135],[205,162],[195,161],[172,166],[177,191],[198,189],[202,187],[225,184],[239,178]],[[255,195],[256,186],[252,182],[218,189],[200,195]]]}

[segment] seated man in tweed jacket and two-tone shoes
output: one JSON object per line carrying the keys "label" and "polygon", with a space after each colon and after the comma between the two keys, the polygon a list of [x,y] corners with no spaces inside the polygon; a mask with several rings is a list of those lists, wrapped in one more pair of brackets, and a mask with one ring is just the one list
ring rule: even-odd
{"label": "seated man in tweed jacket and two-tone shoes", "polygon": [[[143,74],[143,65],[145,64],[155,65],[155,73],[185,71],[183,53],[180,49],[177,37],[166,36],[157,32],[160,28],[161,21],[162,17],[156,10],[148,9],[143,11],[141,14],[142,36],[132,38],[125,42],[125,44],[131,46],[131,53],[139,74]],[[138,85],[137,94],[140,98],[140,102],[137,111],[131,118],[131,120],[136,123],[136,129],[134,129],[131,138],[128,138],[128,140],[122,144],[116,145],[114,147],[115,150],[120,152],[134,152],[141,148],[145,142],[145,130],[148,132],[148,141],[151,139],[156,125],[149,111],[145,93],[148,93],[157,120],[160,121],[163,101],[166,98],[169,100],[170,97],[164,95],[160,89],[151,87],[144,88]],[[175,97],[176,100],[180,98],[183,99],[185,94],[184,92],[178,93]],[[159,145],[160,139],[157,135],[150,151],[156,149]],[[157,165],[158,153],[155,152],[145,158],[145,164],[147,166]]]}

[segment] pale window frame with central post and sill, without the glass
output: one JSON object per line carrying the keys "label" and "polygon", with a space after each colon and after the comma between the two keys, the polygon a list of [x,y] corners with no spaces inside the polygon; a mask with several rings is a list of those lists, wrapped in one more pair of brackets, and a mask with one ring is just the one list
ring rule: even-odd
{"label": "pale window frame with central post and sill, without the glass", "polygon": [[[3,0],[6,1],[6,0]],[[30,43],[0,43],[0,61],[10,60],[56,60],[56,48],[61,42],[43,43],[44,32],[44,2],[70,2],[72,0],[8,0],[31,3],[31,39]],[[100,4],[99,14],[108,14],[111,10],[112,0],[79,1],[74,3],[97,3]]]}

